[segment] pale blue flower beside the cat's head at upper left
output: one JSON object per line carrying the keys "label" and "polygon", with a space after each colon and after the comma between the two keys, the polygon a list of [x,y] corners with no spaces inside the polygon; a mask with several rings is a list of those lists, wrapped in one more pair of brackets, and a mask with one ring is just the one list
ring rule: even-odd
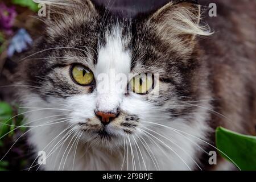
{"label": "pale blue flower beside the cat's head at upper left", "polygon": [[33,41],[27,31],[24,28],[21,28],[11,39],[7,49],[7,55],[11,57],[15,52],[25,51],[28,48],[28,45],[31,45],[32,42]]}

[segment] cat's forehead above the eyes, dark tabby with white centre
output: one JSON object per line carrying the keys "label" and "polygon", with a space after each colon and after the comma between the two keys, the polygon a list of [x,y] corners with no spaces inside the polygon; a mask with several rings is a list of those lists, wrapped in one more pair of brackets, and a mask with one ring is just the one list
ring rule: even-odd
{"label": "cat's forehead above the eyes, dark tabby with white centre", "polygon": [[[80,20],[80,23],[74,22],[72,28],[62,28],[57,32],[53,42],[57,46],[79,47],[85,51],[59,49],[55,51],[57,55],[53,53],[53,56],[84,56],[86,59],[75,61],[86,66],[90,65],[89,68],[94,71],[98,69],[98,72],[103,72],[103,68],[105,70],[113,68],[114,65],[119,72],[123,73],[152,72],[155,69],[161,69],[162,72],[164,69],[160,64],[164,59],[158,59],[159,51],[156,51],[156,46],[160,47],[160,40],[154,38],[154,31],[145,32],[146,25],[143,22],[137,22],[131,18],[123,19],[115,15],[100,15]],[[163,47],[163,44],[160,45]]]}

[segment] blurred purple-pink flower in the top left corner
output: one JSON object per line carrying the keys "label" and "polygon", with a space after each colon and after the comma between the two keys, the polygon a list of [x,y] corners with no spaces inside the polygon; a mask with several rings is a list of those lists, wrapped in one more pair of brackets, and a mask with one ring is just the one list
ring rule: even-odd
{"label": "blurred purple-pink flower in the top left corner", "polygon": [[15,7],[7,7],[4,3],[0,4],[0,29],[4,30],[7,35],[12,34],[14,19],[16,17]]}

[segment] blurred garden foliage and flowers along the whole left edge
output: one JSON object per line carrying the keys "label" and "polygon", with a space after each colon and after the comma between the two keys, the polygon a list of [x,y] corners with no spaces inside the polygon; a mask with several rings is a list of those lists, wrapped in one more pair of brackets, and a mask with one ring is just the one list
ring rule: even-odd
{"label": "blurred garden foliage and flowers along the whole left edge", "polygon": [[[0,86],[13,83],[11,77],[24,48],[20,50],[20,39],[17,39],[15,51],[8,54],[14,44],[14,38],[20,30],[23,40],[27,35],[34,40],[42,30],[42,22],[35,18],[38,5],[32,0],[4,0],[0,1]],[[30,41],[31,42],[31,41]],[[30,49],[28,44],[26,49]],[[23,115],[19,107],[7,102],[12,101],[15,90],[0,88],[0,170],[22,170],[30,167],[34,160],[33,152],[27,142],[27,127],[21,127]],[[11,103],[11,102],[10,102]],[[15,116],[15,117],[14,117]],[[15,143],[15,144],[14,144]],[[4,157],[4,158],[3,158]]]}

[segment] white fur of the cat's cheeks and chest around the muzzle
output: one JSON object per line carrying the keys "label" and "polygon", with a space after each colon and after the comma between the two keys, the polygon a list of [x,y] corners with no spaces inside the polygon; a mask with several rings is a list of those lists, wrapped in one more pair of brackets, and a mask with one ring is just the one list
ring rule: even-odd
{"label": "white fur of the cat's cheeks and chest around the muzzle", "polygon": [[[80,102],[79,102],[80,101]],[[83,101],[83,102],[81,102]],[[92,101],[92,102],[91,102]],[[80,104],[79,104],[80,103]],[[88,103],[92,103],[89,104]],[[69,122],[78,122],[81,121],[81,119],[86,119],[88,117],[93,117],[93,108],[95,108],[95,105],[93,104],[93,99],[91,96],[77,96],[72,98],[68,101],[60,101],[52,98],[51,105],[47,104],[45,101],[40,100],[39,98],[34,98],[30,102],[27,103],[27,106],[35,107],[60,107],[60,104],[65,104],[67,107],[65,109],[71,109],[73,108],[73,112],[70,113],[71,117],[74,117],[74,119],[70,119],[67,122],[64,123],[58,123],[48,126],[40,126],[35,127],[31,129],[30,131],[30,142],[36,146],[36,151],[46,151],[47,159],[46,159],[46,165],[42,166],[43,168],[49,170],[119,170],[122,166],[123,157],[125,155],[124,153],[124,147],[121,145],[123,141],[120,143],[120,146],[113,148],[113,150],[106,149],[104,147],[99,146],[90,146],[90,142],[84,143],[82,140],[79,142],[79,145],[77,147],[77,150],[75,149],[75,144],[72,146],[71,151],[69,151],[69,148],[71,147],[71,144],[68,147],[68,144],[70,140],[72,139],[72,136],[67,139],[66,142],[64,142],[63,147],[59,147],[61,143],[57,144],[61,138],[64,137],[64,134],[67,133],[64,132],[59,137],[57,137],[53,142],[51,143],[52,139],[54,139],[57,135],[59,135],[64,129],[66,129],[71,123]],[[93,107],[94,105],[94,107]],[[134,105],[137,105],[134,107]],[[74,107],[76,106],[76,107]],[[190,126],[188,123],[184,120],[177,119],[176,121],[169,121],[169,118],[167,115],[159,115],[157,112],[154,113],[154,107],[150,104],[146,104],[142,101],[139,101],[138,98],[126,98],[123,100],[122,109],[125,109],[129,113],[138,114],[139,117],[142,117],[144,122],[141,122],[141,127],[147,127],[150,130],[154,130],[155,132],[164,135],[166,138],[169,138],[172,140],[170,142],[169,140],[166,140],[162,137],[159,137],[159,135],[156,135],[155,133],[152,133],[151,131],[148,131],[148,133],[151,133],[151,135],[154,135],[157,138],[160,138],[164,143],[167,144],[168,147],[172,148],[176,152],[173,152],[170,150],[170,148],[166,147],[163,143],[159,142],[159,140],[155,139],[151,136],[152,139],[155,140],[156,143],[161,147],[161,149],[156,146],[152,140],[148,139],[145,135],[143,135],[143,131],[138,129],[137,135],[139,135],[141,138],[143,138],[149,148],[148,151],[150,152],[151,156],[154,154],[155,159],[158,163],[159,169],[162,170],[188,170],[190,167],[191,169],[195,168],[195,162],[193,162],[192,159],[197,161],[196,153],[197,150],[201,151],[197,145],[203,146],[204,143],[201,142],[201,140],[196,139],[194,137],[191,137],[191,135],[194,135],[197,138],[207,140],[205,139],[205,133],[209,132],[209,127],[205,125],[205,119],[208,117],[208,114],[205,113],[205,109],[197,109],[195,115],[193,117],[196,118],[196,121],[194,121],[193,125]],[[207,105],[205,105],[207,107]],[[152,111],[153,109],[153,111]],[[57,115],[61,113],[68,114],[68,111],[56,111],[56,110],[42,110],[42,111],[35,111],[31,112],[27,115],[27,119],[29,122],[35,121],[36,119],[45,118],[45,117],[51,117],[52,115]],[[56,117],[59,118],[59,117]],[[41,121],[34,122],[34,126],[43,125],[44,123],[49,122],[49,119],[43,119]],[[166,125],[170,128],[174,128],[175,130],[170,130],[164,127],[161,127],[159,125],[153,125],[151,123],[145,123],[145,122],[154,122],[158,123],[159,125]],[[111,125],[111,123],[110,123]],[[72,128],[72,127],[71,127]],[[69,128],[69,129],[71,129]],[[144,128],[142,128],[144,130]],[[178,131],[183,131],[184,133],[180,133]],[[112,131],[118,133],[118,131]],[[142,142],[138,140],[138,138],[134,135],[134,137],[137,139],[138,146],[140,147],[140,150],[142,152],[143,160],[145,162],[145,165],[143,164],[143,160],[141,157],[140,152],[135,152],[135,143],[133,142],[133,137],[130,137],[131,139],[131,145],[133,147],[134,155],[135,155],[135,166],[136,169],[142,169],[142,170],[157,170],[158,168],[155,166],[153,160],[150,158],[150,155],[148,155],[148,152],[144,149]],[[75,139],[75,138],[74,138]],[[74,139],[72,142],[74,142]],[[143,141],[143,140],[142,140]],[[51,143],[47,148],[47,144]],[[57,146],[53,148],[53,146]],[[138,148],[138,146],[136,146]],[[179,146],[179,147],[177,147]],[[129,147],[129,144],[128,144]],[[66,148],[68,150],[65,152]],[[183,150],[181,150],[181,148]],[[52,150],[52,151],[51,151]],[[76,150],[76,158],[74,159]],[[132,165],[132,159],[131,159],[131,150],[129,150],[129,158],[128,162],[125,162],[125,165],[123,169],[135,169]],[[51,152],[50,152],[51,151]],[[55,151],[55,152],[53,152]],[[67,154],[69,151],[69,154]],[[53,153],[52,153],[53,152]],[[65,153],[65,154],[64,154]],[[177,156],[179,155],[179,156]],[[61,158],[64,156],[64,159]],[[65,166],[63,167],[63,163],[65,162]],[[126,156],[127,158],[127,148],[126,148]],[[154,159],[154,158],[153,158]],[[183,159],[183,160],[181,160]],[[74,161],[73,161],[74,160]],[[74,168],[73,168],[73,163]],[[156,162],[155,162],[156,163]],[[187,165],[188,167],[187,167]],[[141,168],[139,168],[141,166]],[[145,167],[146,166],[146,167]]]}

